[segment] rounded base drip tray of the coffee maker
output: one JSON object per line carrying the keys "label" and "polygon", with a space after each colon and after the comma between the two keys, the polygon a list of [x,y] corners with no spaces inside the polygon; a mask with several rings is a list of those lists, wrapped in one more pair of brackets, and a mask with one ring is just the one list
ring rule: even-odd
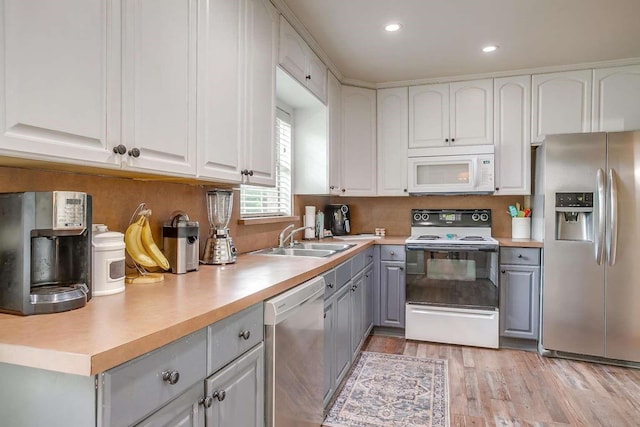
{"label": "rounded base drip tray of the coffee maker", "polygon": [[35,313],[57,313],[84,307],[89,288],[85,283],[51,283],[34,286],[29,297]]}

